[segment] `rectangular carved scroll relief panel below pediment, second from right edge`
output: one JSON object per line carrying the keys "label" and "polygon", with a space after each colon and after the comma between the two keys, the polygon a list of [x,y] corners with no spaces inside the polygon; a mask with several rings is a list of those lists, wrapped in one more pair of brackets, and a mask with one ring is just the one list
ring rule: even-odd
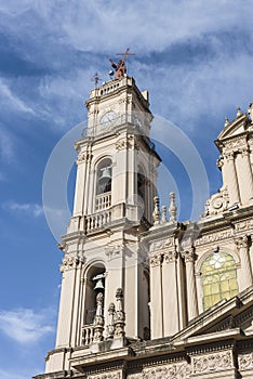
{"label": "rectangular carved scroll relief panel below pediment, second from right edge", "polygon": [[209,354],[192,358],[194,374],[218,371],[224,368],[232,367],[231,353],[229,351],[217,354]]}

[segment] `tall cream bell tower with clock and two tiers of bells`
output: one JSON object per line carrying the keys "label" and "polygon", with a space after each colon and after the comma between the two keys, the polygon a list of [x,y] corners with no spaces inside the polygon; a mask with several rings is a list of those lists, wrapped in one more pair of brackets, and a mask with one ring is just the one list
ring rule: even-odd
{"label": "tall cream bell tower with clock and two tiers of bells", "polygon": [[75,350],[118,336],[149,338],[148,252],[160,157],[149,139],[148,92],[126,75],[94,88],[78,152],[74,212],[63,236],[56,349],[46,373],[69,369]]}

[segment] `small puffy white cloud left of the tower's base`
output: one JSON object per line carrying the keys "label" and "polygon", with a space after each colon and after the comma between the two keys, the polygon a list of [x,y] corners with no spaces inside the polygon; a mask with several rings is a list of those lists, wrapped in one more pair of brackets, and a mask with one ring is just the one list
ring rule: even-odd
{"label": "small puffy white cloud left of the tower's base", "polygon": [[54,329],[46,314],[50,311],[36,313],[30,309],[0,312],[0,329],[21,344],[36,343]]}

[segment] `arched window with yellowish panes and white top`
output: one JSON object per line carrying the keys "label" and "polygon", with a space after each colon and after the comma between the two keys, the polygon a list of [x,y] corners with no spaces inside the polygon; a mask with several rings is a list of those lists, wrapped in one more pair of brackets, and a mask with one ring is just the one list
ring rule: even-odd
{"label": "arched window with yellowish panes and white top", "polygon": [[201,265],[203,310],[222,299],[230,299],[238,293],[237,267],[235,259],[226,252],[214,252]]}

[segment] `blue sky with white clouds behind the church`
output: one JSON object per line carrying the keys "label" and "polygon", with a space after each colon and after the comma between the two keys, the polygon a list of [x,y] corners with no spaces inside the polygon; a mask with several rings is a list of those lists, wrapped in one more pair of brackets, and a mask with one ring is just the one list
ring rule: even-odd
{"label": "blue sky with white clouds behind the church", "polygon": [[[91,76],[108,80],[108,58],[130,47],[129,75],[149,90],[152,113],[191,141],[214,193],[213,140],[225,116],[253,101],[251,8],[250,0],[0,0],[2,379],[43,373],[54,348],[62,253],[43,213],[43,172],[56,143],[85,120]],[[179,148],[168,149],[168,130],[154,138],[188,218],[190,179]],[[70,198],[72,187],[70,179]]]}

